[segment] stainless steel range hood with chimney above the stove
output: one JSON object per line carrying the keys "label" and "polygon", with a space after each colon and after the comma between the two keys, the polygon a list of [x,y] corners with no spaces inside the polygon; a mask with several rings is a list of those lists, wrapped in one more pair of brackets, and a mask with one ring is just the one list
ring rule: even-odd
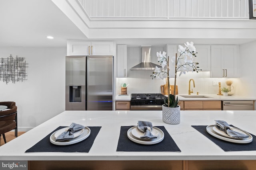
{"label": "stainless steel range hood with chimney above the stove", "polygon": [[132,67],[131,70],[155,70],[156,66],[162,67],[158,64],[151,63],[151,53],[150,53],[151,47],[141,47],[141,63]]}

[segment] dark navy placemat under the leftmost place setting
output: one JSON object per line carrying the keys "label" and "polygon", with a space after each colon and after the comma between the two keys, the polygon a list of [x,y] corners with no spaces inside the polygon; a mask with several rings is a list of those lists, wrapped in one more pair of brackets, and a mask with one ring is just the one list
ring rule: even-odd
{"label": "dark navy placemat under the leftmost place setting", "polygon": [[94,142],[94,139],[98,135],[101,127],[89,127],[91,129],[91,134],[88,138],[81,142],[72,145],[54,145],[50,142],[50,136],[55,131],[64,128],[65,126],[60,126],[49,135],[44,137],[41,141],[36,143],[33,147],[26,150],[26,152],[89,152]]}

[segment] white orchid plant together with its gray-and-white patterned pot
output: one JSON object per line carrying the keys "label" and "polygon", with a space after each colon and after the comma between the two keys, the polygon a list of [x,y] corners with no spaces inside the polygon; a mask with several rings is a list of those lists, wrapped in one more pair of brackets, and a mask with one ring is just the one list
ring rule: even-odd
{"label": "white orchid plant together with its gray-and-white patterned pot", "polygon": [[186,74],[189,69],[192,67],[193,71],[198,72],[199,63],[194,62],[194,57],[196,57],[196,48],[194,47],[193,42],[187,42],[184,44],[185,47],[179,45],[179,57],[177,54],[175,57],[172,57],[171,61],[173,66],[175,67],[175,76],[174,76],[174,92],[170,94],[170,76],[169,76],[169,56],[166,57],[166,52],[161,54],[161,51],[156,53],[158,57],[158,62],[162,66],[162,68],[158,68],[153,72],[152,79],[164,79],[167,78],[167,86],[168,86],[168,100],[164,101],[163,108],[163,121],[168,124],[179,124],[180,123],[180,106],[178,106],[178,96],[176,97],[176,78],[177,72],[180,71],[180,74]]}

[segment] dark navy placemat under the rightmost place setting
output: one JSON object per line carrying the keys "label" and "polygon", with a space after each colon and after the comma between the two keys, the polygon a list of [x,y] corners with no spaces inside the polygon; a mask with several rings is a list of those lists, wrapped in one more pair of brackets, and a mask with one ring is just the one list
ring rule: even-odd
{"label": "dark navy placemat under the rightmost place setting", "polygon": [[[232,125],[230,125],[232,126]],[[243,150],[256,150],[256,136],[252,135],[252,142],[251,143],[232,143],[228,141],[223,141],[221,139],[218,139],[212,135],[210,135],[206,131],[207,126],[192,126],[197,131],[202,133],[204,136],[206,136],[208,139],[210,139],[212,142],[214,142],[216,145],[218,145],[221,149],[224,151],[243,151]]]}

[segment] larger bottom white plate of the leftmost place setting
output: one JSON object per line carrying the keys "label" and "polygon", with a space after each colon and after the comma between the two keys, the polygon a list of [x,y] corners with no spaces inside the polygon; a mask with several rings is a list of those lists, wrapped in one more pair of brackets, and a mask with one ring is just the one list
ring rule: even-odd
{"label": "larger bottom white plate of the leftmost place setting", "polygon": [[52,135],[50,136],[50,142],[54,145],[72,145],[74,143],[78,143],[78,142],[81,142],[83,141],[84,139],[88,138],[91,134],[91,129],[89,127],[85,127],[84,128],[84,132],[79,135],[78,137],[74,138],[74,139],[71,139],[69,141],[63,141],[63,142],[56,142],[55,141],[55,133],[52,133]]}

